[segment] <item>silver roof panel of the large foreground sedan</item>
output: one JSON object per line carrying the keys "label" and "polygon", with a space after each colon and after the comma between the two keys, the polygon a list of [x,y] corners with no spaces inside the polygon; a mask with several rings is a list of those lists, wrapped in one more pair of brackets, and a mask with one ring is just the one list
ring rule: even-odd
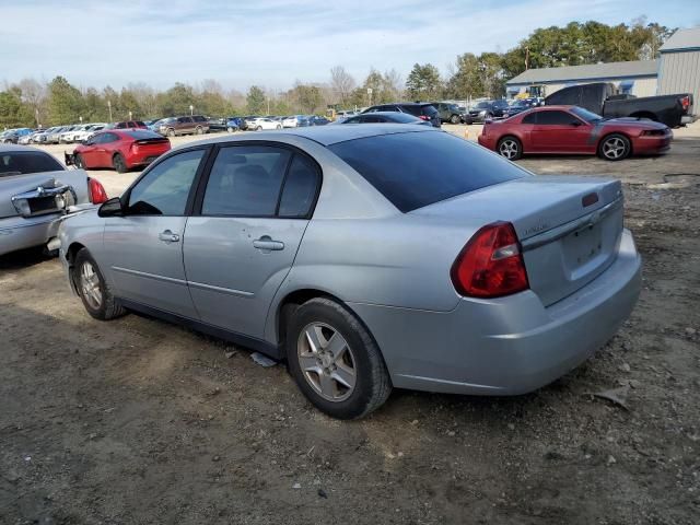
{"label": "silver roof panel of the large foreground sedan", "polygon": [[[308,128],[290,128],[278,131],[260,131],[254,133],[254,137],[249,135],[240,136],[224,136],[211,139],[205,139],[196,144],[213,144],[221,142],[234,142],[245,140],[279,140],[284,141],[285,137],[302,137],[314,142],[318,142],[322,145],[332,145],[338,142],[346,142],[348,140],[364,139],[368,137],[378,137],[383,135],[396,135],[396,133],[444,133],[438,128],[432,126],[416,126],[412,124],[369,124],[359,126],[312,126]],[[189,148],[195,143],[189,142],[180,147],[174,148],[176,150]]]}

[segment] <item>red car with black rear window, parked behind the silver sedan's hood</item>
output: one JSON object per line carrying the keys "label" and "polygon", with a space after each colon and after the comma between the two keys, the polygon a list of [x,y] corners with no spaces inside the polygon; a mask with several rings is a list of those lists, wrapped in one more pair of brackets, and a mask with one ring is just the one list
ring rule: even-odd
{"label": "red car with black rear window, parked behind the silver sedan's hood", "polygon": [[145,166],[171,149],[171,141],[145,129],[109,129],[78,145],[67,162],[78,167],[113,167],[125,173]]}

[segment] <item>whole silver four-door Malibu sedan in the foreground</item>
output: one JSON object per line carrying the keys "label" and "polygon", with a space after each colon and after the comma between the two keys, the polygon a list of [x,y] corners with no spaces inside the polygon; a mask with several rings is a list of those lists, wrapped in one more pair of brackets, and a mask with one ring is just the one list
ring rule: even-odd
{"label": "whole silver four-door Malibu sedan in the foreground", "polygon": [[534,176],[428,126],[228,136],[63,221],[90,315],[147,313],[284,360],[341,419],[393,387],[516,395],[629,316],[618,180]]}

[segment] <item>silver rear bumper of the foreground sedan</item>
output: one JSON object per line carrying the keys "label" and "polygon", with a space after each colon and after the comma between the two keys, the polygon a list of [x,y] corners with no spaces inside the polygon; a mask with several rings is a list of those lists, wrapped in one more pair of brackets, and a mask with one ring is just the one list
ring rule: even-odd
{"label": "silver rear bumper of the foreground sedan", "polygon": [[463,299],[452,312],[350,304],[375,337],[394,386],[453,394],[518,395],[551,383],[605,345],[641,288],[641,259],[625,231],[617,260],[544,307],[522,292]]}

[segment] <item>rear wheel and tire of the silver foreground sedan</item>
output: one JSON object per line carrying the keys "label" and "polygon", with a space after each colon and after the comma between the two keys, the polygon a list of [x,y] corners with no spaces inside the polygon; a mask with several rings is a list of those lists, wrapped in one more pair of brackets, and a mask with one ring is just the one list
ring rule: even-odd
{"label": "rear wheel and tire of the silver foreground sedan", "polygon": [[334,418],[366,416],[392,393],[376,342],[354,315],[328,299],[312,299],[293,313],[287,360],[306,398]]}

